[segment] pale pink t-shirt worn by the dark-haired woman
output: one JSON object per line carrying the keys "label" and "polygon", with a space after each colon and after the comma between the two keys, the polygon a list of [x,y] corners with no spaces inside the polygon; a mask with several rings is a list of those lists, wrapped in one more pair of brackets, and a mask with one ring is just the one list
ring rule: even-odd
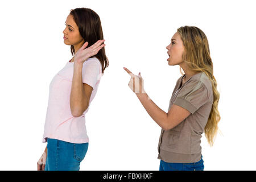
{"label": "pale pink t-shirt worn by the dark-haired woman", "polygon": [[49,85],[49,100],[44,124],[43,142],[47,138],[64,140],[71,143],[89,142],[85,127],[85,114],[95,97],[102,74],[101,63],[96,57],[82,64],[82,82],[92,86],[89,106],[80,117],[73,117],[70,108],[70,94],[74,63],[69,62],[52,79]]}

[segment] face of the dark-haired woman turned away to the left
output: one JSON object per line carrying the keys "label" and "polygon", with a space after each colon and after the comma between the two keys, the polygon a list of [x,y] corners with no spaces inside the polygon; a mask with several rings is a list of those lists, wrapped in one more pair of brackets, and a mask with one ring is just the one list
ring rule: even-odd
{"label": "face of the dark-haired woman turned away to the left", "polygon": [[68,15],[67,20],[65,22],[65,29],[63,30],[64,37],[64,43],[66,45],[77,45],[81,44],[81,42],[84,42],[84,39],[81,37],[79,32],[79,27],[77,27],[76,22],[73,20],[72,15]]}

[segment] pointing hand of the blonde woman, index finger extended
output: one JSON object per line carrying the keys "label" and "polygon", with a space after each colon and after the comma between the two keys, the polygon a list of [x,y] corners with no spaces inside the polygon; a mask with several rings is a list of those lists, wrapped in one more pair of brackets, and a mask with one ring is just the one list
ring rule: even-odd
{"label": "pointing hand of the blonde woman, index finger extended", "polygon": [[144,80],[141,77],[141,72],[139,72],[139,76],[134,75],[129,69],[123,67],[127,73],[131,76],[129,87],[133,90],[134,93],[146,93],[144,90]]}

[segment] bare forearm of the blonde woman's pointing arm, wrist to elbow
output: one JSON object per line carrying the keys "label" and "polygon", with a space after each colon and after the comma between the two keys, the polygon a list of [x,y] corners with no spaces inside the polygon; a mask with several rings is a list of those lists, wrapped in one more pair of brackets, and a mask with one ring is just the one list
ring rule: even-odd
{"label": "bare forearm of the blonde woman's pointing arm, wrist to elbow", "polygon": [[160,109],[151,99],[148,99],[147,93],[136,93],[136,95],[150,117],[162,127],[162,129],[166,129],[167,113]]}

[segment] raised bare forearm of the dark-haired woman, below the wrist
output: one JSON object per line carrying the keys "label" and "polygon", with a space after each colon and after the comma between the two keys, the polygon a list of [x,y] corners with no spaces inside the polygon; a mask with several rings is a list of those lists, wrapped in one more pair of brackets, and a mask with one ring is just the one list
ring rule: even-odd
{"label": "raised bare forearm of the dark-haired woman, below the wrist", "polygon": [[70,107],[72,115],[80,115],[82,113],[82,108],[85,108],[87,103],[84,86],[82,85],[82,64],[74,64],[70,95]]}

